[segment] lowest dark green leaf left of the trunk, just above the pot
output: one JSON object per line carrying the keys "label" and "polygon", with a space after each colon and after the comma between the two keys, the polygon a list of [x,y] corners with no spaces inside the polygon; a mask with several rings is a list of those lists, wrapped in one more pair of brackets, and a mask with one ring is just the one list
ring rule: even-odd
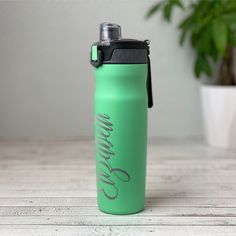
{"label": "lowest dark green leaf left of the trunk, just above the pot", "polygon": [[197,78],[200,78],[202,73],[211,76],[211,66],[204,55],[198,54],[194,65],[194,72]]}

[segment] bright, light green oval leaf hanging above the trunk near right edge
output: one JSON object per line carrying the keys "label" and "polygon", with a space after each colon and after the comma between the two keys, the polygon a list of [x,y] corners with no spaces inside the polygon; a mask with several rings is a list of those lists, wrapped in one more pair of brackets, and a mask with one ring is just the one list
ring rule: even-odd
{"label": "bright, light green oval leaf hanging above the trunk near right edge", "polygon": [[213,41],[216,49],[222,55],[225,53],[228,39],[228,28],[225,21],[218,17],[212,22]]}

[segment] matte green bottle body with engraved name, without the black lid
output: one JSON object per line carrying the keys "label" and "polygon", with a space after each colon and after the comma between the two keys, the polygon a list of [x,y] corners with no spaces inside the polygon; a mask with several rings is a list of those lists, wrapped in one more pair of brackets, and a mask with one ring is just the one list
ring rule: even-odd
{"label": "matte green bottle body with engraved name, without the black lid", "polygon": [[132,214],[145,200],[147,64],[103,64],[95,73],[98,206]]}

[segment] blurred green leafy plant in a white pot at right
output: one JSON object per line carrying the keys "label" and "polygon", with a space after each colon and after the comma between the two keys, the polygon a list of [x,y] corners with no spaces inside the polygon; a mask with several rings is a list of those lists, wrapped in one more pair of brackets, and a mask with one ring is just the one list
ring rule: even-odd
{"label": "blurred green leafy plant in a white pot at right", "polygon": [[[158,11],[167,22],[174,8],[184,11],[180,20],[180,45],[190,40],[195,52],[196,78],[211,79],[201,85],[201,101],[206,140],[210,145],[236,148],[236,80],[234,47],[236,46],[236,1],[182,0],[159,1],[147,12],[149,18]],[[216,73],[213,73],[216,72]]]}

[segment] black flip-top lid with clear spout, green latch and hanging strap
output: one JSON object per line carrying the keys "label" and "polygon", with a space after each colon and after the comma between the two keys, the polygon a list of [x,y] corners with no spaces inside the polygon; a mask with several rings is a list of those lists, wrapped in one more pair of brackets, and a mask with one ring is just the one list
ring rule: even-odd
{"label": "black flip-top lid with clear spout, green latch and hanging strap", "polygon": [[150,108],[153,106],[153,98],[149,43],[148,40],[122,39],[119,25],[102,23],[100,41],[92,46],[90,63],[95,67],[102,64],[147,64],[146,86]]}

